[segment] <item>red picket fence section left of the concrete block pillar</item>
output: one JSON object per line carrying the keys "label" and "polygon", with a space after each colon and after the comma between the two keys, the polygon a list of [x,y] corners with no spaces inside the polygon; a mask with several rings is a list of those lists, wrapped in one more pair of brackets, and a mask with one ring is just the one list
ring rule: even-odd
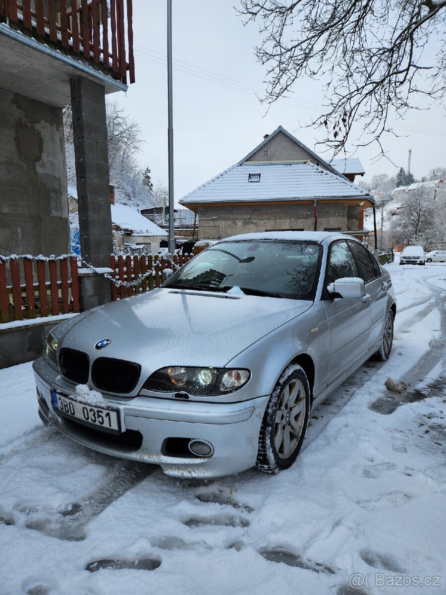
{"label": "red picket fence section left of the concrete block pillar", "polygon": [[79,311],[76,257],[0,257],[0,323]]}

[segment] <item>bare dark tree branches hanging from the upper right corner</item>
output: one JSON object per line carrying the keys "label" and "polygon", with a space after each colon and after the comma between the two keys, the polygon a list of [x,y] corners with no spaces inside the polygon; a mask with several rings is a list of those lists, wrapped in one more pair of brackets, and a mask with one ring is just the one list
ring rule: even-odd
{"label": "bare dark tree branches hanging from the upper right corner", "polygon": [[394,133],[391,108],[403,115],[420,96],[445,98],[446,0],[240,1],[244,24],[259,23],[263,101],[287,96],[306,76],[321,79],[325,112],[311,126],[325,129],[321,142],[335,154],[353,124],[367,131],[356,145],[365,146]]}

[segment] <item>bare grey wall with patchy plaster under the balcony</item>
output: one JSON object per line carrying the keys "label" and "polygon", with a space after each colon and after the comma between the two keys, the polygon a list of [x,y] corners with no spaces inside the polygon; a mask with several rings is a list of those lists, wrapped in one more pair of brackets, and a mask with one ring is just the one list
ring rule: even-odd
{"label": "bare grey wall with patchy plaster under the balcony", "polygon": [[66,254],[62,109],[0,88],[0,114],[0,254]]}

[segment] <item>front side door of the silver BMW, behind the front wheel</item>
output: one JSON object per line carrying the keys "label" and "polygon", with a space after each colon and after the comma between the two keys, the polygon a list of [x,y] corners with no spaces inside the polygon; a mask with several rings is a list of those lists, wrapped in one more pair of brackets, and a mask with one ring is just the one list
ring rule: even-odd
{"label": "front side door of the silver BMW, behind the front wheel", "polygon": [[331,244],[326,265],[322,303],[329,327],[327,383],[331,384],[363,358],[369,345],[369,301],[334,297],[326,287],[342,277],[359,277],[356,262],[346,240]]}

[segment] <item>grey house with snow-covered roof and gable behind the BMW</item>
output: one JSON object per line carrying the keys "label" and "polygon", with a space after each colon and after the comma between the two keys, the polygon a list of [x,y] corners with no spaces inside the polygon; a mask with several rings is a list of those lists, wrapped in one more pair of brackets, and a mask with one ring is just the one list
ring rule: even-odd
{"label": "grey house with snow-covered roof and gable behind the BMW", "polygon": [[[363,168],[359,162],[353,169]],[[363,211],[374,201],[279,126],[180,204],[199,215],[199,238],[215,239],[255,231],[362,230]]]}

